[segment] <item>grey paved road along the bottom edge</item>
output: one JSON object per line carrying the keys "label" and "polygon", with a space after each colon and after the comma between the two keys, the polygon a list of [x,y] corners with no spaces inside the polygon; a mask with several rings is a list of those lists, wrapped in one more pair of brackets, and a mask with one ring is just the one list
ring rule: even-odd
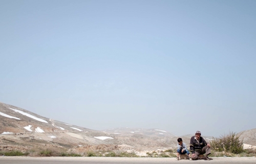
{"label": "grey paved road along the bottom edge", "polygon": [[150,163],[150,164],[169,164],[169,163],[256,163],[255,157],[216,157],[214,160],[179,160],[175,158],[126,158],[126,157],[8,157],[1,156],[0,163],[2,164],[135,164],[135,163]]}

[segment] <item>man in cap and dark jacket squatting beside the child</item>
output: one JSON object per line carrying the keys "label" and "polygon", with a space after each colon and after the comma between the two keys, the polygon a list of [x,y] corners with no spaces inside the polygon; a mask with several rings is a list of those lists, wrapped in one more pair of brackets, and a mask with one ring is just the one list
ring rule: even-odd
{"label": "man in cap and dark jacket squatting beside the child", "polygon": [[[204,159],[211,160],[208,155],[210,154],[210,144],[206,143],[203,137],[201,137],[201,132],[197,131],[196,135],[190,138],[190,151],[192,152],[192,159]],[[205,154],[204,157],[199,157],[199,155]]]}

